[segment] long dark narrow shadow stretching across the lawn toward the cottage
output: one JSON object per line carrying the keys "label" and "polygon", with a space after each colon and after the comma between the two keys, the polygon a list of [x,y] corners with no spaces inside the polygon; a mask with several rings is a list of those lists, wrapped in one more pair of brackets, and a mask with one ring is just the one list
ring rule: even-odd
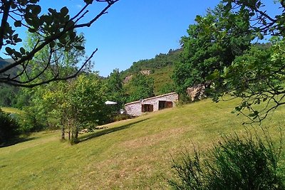
{"label": "long dark narrow shadow stretching across the lawn toward the cottage", "polygon": [[[148,120],[148,119],[145,119],[145,120]],[[84,137],[79,137],[78,138],[78,143],[80,142],[84,142],[88,139],[93,139],[95,137],[100,137],[100,136],[103,136],[105,134],[109,134],[111,132],[117,132],[117,131],[120,131],[120,130],[125,130],[125,129],[128,129],[129,127],[131,127],[132,125],[135,125],[139,122],[143,122],[145,120],[139,120],[137,122],[131,122],[129,124],[126,124],[126,125],[122,125],[120,127],[113,127],[113,128],[110,128],[110,129],[106,129],[106,130],[103,130],[103,131],[100,131],[100,132],[95,132],[95,133],[92,133],[92,134],[87,134],[86,136]]]}

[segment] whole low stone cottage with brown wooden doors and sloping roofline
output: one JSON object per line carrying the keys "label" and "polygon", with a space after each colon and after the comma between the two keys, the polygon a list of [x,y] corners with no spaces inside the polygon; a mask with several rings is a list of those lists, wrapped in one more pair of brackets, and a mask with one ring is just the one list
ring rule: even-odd
{"label": "whole low stone cottage with brown wooden doors and sloping roofline", "polygon": [[125,111],[128,115],[139,116],[144,112],[155,112],[157,110],[175,107],[177,101],[177,93],[168,93],[125,104]]}

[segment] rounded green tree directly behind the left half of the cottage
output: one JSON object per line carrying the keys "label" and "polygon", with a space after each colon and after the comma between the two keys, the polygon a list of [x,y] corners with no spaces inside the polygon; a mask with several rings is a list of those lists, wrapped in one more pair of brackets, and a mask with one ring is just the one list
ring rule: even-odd
{"label": "rounded green tree directly behind the left half of the cottage", "polygon": [[148,77],[147,75],[143,75],[142,73],[137,73],[133,75],[133,78],[130,80],[128,84],[129,91],[129,102],[145,99],[147,97],[152,97],[155,94],[154,90],[154,80],[153,78]]}

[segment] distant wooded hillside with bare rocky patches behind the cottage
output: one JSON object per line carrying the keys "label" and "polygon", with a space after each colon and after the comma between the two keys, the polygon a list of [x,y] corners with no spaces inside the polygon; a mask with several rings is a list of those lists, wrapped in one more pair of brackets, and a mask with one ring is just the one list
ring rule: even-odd
{"label": "distant wooded hillside with bare rocky patches behind the cottage", "polygon": [[170,76],[181,51],[181,48],[177,50],[170,49],[168,53],[160,53],[155,58],[139,60],[134,62],[127,70],[123,70],[120,75],[124,83],[128,83],[133,74],[138,72],[150,75],[155,80],[155,95],[169,93],[167,89],[170,90],[169,88],[172,88],[174,85]]}

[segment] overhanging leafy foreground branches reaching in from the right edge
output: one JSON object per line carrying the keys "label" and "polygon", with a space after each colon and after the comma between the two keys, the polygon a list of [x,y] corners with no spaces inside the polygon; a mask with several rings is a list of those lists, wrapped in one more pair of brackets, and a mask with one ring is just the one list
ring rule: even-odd
{"label": "overhanging leafy foreground branches reaching in from the right edge", "polygon": [[224,95],[241,97],[242,101],[236,110],[247,115],[252,122],[261,122],[269,112],[285,104],[284,1],[279,1],[281,12],[274,16],[263,11],[262,1],[224,2],[227,2],[227,11],[250,15],[252,34],[256,38],[262,39],[267,35],[274,38],[271,39],[269,50],[252,46],[224,70],[216,70],[212,74],[209,79],[213,80],[214,100],[218,101]]}

